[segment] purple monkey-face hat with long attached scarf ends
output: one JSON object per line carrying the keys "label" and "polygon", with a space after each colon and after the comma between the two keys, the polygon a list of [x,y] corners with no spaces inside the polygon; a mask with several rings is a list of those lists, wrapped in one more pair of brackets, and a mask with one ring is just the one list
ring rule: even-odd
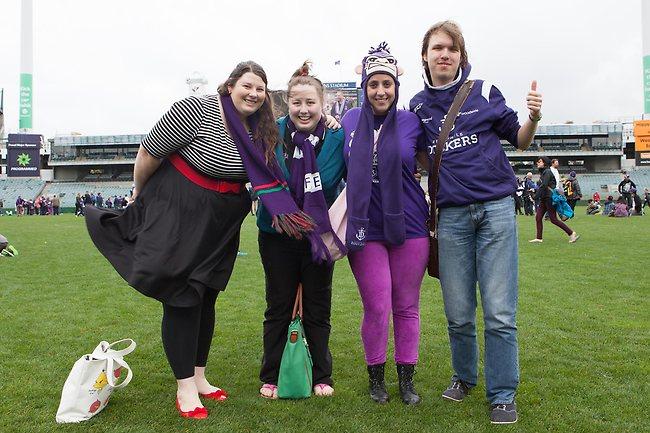
{"label": "purple monkey-face hat with long attached scarf ends", "polygon": [[[377,140],[377,162],[379,188],[381,191],[381,209],[383,212],[383,229],[386,241],[392,245],[401,245],[406,238],[404,223],[404,206],[402,200],[402,156],[400,153],[397,124],[397,99],[399,81],[397,80],[396,61],[390,55],[388,47],[381,44],[372,48],[364,57],[361,87],[364,102],[361,114],[350,143],[347,178],[348,226],[345,234],[346,246],[350,251],[360,250],[366,245],[368,231],[368,206],[372,191],[372,158],[374,148],[374,114],[368,102],[368,78],[376,73],[389,74],[395,80],[395,101],[391,105],[386,120],[381,127]],[[390,71],[395,70],[394,73]]]}

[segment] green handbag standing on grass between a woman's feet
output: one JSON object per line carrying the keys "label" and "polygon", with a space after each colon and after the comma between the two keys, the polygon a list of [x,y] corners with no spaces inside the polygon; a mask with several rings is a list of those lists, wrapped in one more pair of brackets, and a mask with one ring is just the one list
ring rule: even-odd
{"label": "green handbag standing on grass between a woman's feet", "polygon": [[302,284],[298,285],[293,316],[287,331],[287,343],[280,362],[278,397],[308,398],[312,390],[312,360],[302,327]]}

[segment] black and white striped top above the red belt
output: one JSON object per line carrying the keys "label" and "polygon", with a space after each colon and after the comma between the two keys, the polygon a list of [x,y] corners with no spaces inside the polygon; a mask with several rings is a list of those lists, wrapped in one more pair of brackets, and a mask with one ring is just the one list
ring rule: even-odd
{"label": "black and white striped top above the red belt", "polygon": [[226,131],[218,95],[175,102],[142,140],[156,158],[178,152],[193,168],[217,179],[246,180],[235,142]]}

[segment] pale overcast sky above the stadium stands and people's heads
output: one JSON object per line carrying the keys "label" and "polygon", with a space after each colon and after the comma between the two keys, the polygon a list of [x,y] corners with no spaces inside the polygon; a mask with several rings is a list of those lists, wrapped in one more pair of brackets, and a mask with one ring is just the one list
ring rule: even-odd
{"label": "pale overcast sky above the stadium stands and people's heads", "polygon": [[[424,32],[443,19],[461,25],[472,77],[499,87],[520,119],[533,79],[542,123],[639,117],[641,1],[34,0],[34,132],[148,132],[193,71],[214,93],[241,60],[260,63],[274,89],[305,59],[323,81],[358,80],[354,67],[383,40],[408,105]],[[20,3],[0,0],[7,132],[18,128]]]}

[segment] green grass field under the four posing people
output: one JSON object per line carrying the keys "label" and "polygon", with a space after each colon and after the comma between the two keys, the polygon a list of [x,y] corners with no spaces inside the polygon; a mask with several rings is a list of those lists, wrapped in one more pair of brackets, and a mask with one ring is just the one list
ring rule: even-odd
{"label": "green grass field under the four posing people", "polygon": [[[534,221],[518,218],[520,420],[491,426],[482,376],[464,402],[440,397],[451,375],[450,355],[440,287],[428,277],[416,375],[423,402],[406,407],[399,401],[390,367],[391,402],[371,404],[361,305],[346,260],[334,275],[336,396],[259,398],[264,280],[252,218],[240,247],[248,255],[238,258],[217,301],[208,364],[212,381],[231,397],[207,402],[207,420],[183,420],[160,342],[158,302],[121,280],[93,247],[81,218],[1,217],[0,233],[20,255],[0,259],[0,432],[650,431],[650,217],[587,217],[579,210],[570,225],[582,238],[573,245],[548,222],[544,243],[529,244]],[[138,343],[127,357],[131,384],[92,420],[57,425],[61,388],[74,361],[102,339],[125,337]]]}

